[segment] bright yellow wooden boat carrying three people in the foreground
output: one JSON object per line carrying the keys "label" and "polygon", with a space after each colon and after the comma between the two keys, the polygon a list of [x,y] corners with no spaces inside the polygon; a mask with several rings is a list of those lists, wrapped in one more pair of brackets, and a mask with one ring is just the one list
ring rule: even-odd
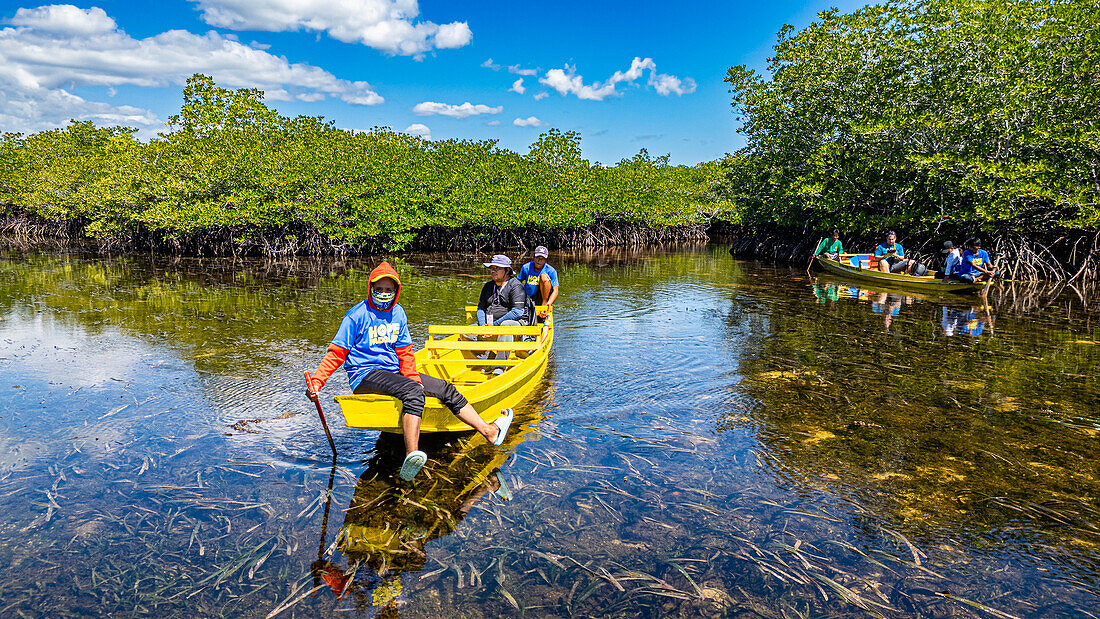
{"label": "bright yellow wooden boat carrying three people in the foreground", "polygon": [[[550,361],[553,344],[553,310],[538,306],[536,311],[547,311],[544,322],[534,327],[471,327],[477,312],[476,306],[466,306],[468,324],[432,324],[428,328],[425,347],[416,352],[417,372],[442,378],[455,386],[459,393],[477,409],[482,419],[493,422],[505,408],[515,408],[542,379]],[[463,335],[515,336],[514,342],[469,340]],[[529,340],[529,341],[525,341]],[[508,351],[507,360],[477,358],[477,353]],[[486,374],[494,367],[504,373]],[[388,396],[337,396],[337,404],[349,428],[402,432],[402,402]],[[438,398],[426,398],[421,432],[461,432],[470,427],[463,423]]]}

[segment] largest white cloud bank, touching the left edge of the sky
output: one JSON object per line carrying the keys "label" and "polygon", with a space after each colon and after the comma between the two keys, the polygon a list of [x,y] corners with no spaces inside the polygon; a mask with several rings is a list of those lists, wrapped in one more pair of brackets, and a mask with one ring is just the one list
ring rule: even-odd
{"label": "largest white cloud bank, touching the left edge of the sky", "polygon": [[276,100],[337,98],[376,106],[384,99],[365,81],[337,78],[319,67],[289,63],[217,32],[170,30],[146,38],[122,32],[102,9],[70,5],[19,9],[0,29],[0,125],[40,131],[69,119],[139,126],[161,124],[130,106],[88,101],[73,87],[182,86],[195,73],[231,88],[260,88]]}

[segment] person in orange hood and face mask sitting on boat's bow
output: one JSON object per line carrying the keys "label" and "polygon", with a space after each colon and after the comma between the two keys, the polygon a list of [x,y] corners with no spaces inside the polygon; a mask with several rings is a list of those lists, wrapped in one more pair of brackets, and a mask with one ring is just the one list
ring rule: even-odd
{"label": "person in orange hood and face mask sitting on boat's bow", "polygon": [[314,372],[306,391],[317,401],[317,391],[341,365],[355,394],[377,394],[402,400],[402,433],[405,435],[405,462],[398,475],[410,480],[428,461],[419,450],[420,418],[425,395],[439,398],[459,419],[495,445],[504,443],[512,423],[510,409],[501,419],[486,423],[454,385],[419,374],[413,356],[405,308],[397,305],[402,280],[394,267],[384,262],[371,272],[366,300],[348,310],[328,353]]}

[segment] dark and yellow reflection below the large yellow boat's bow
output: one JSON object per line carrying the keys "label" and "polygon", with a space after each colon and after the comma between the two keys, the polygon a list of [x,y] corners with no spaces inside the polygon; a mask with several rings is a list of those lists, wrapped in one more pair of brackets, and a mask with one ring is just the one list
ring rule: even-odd
{"label": "dark and yellow reflection below the large yellow boat's bow", "polygon": [[413,484],[396,475],[405,456],[402,436],[383,433],[359,478],[343,526],[327,549],[326,505],[321,548],[312,565],[315,588],[327,585],[339,599],[349,598],[360,609],[396,609],[400,575],[425,568],[428,542],[454,532],[477,502],[491,500],[487,497],[512,499],[501,467],[536,422],[514,424],[503,446],[475,433],[421,434],[420,446],[431,457]]}

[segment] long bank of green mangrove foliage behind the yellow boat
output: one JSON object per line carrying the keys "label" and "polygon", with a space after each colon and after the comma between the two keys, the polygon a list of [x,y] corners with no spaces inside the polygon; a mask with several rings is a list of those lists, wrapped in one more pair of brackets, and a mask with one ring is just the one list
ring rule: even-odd
{"label": "long bank of green mangrove foliage behind the yellow boat", "polygon": [[642,151],[590,164],[580,135],[551,129],[527,155],[493,141],[425,141],[388,129],[352,132],[285,118],[263,92],[193,76],[169,130],[73,122],[0,140],[0,202],[87,223],[127,240],[229,232],[240,244],[316,234],[340,245],[399,250],[426,226],[570,229],[601,221],[651,228],[722,212],[723,169],[670,166]]}

